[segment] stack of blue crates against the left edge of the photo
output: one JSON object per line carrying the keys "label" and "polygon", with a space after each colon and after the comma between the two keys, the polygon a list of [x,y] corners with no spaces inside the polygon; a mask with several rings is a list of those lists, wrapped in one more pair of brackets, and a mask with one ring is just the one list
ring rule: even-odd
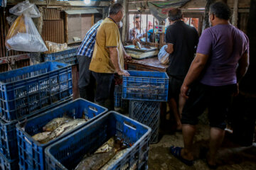
{"label": "stack of blue crates against the left edge of the photo", "polygon": [[71,101],[72,95],[69,64],[45,62],[0,73],[2,169],[14,169],[11,167],[18,166],[15,125],[26,118]]}

